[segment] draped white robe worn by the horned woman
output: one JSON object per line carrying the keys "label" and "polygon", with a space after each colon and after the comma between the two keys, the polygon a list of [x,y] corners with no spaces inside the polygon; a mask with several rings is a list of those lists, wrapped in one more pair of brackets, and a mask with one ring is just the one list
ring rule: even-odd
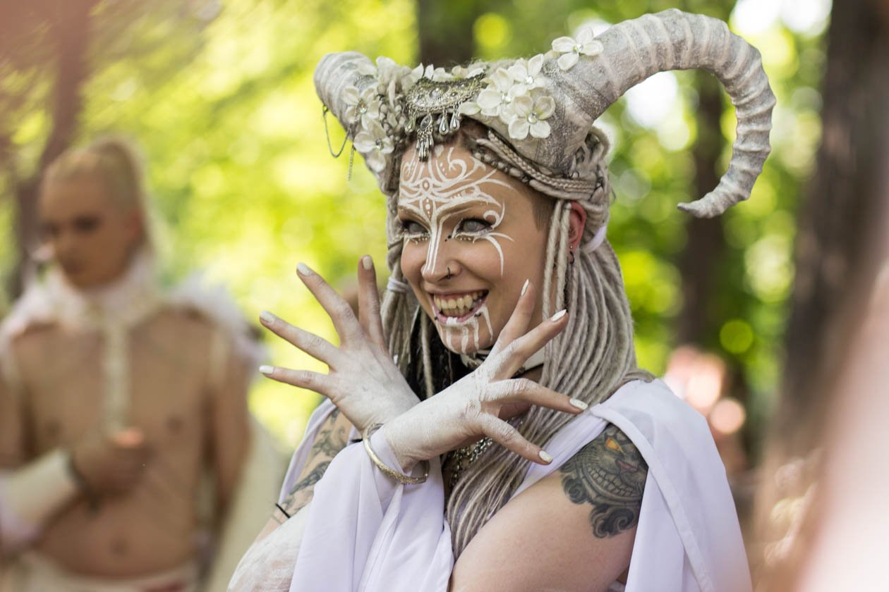
{"label": "draped white robe worn by the horned woman", "polygon": [[[309,421],[282,500],[331,411],[325,401]],[[633,441],[648,464],[626,590],[749,592],[741,528],[707,422],[661,381],[626,384],[568,422],[547,445],[554,461],[531,465],[516,494],[557,470],[608,423]],[[379,432],[372,446],[383,462],[396,466]],[[451,533],[441,467],[437,459],[430,464],[426,483],[401,485],[374,467],[361,444],[347,446],[316,484],[312,503],[269,535],[261,554],[268,562],[276,549],[287,549],[275,571],[292,569],[292,592],[445,592],[453,569]],[[244,557],[236,580],[250,569],[251,556],[257,558]],[[296,556],[295,565],[285,556]],[[268,570],[270,563],[265,565]]]}

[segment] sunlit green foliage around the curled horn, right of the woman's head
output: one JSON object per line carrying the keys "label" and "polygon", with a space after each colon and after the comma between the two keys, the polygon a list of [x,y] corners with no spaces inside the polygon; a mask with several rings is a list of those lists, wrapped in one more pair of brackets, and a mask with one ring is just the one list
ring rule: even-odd
{"label": "sunlit green foliage around the curled horn, right of the woman's head", "polygon": [[[531,0],[490,3],[488,12],[476,21],[476,49],[485,59],[532,55],[547,51],[552,39],[573,35],[581,25],[602,26],[667,8],[702,12],[729,20],[734,27],[735,20],[730,19],[734,4],[633,0],[591,5],[554,0],[541,10]],[[749,392],[738,394],[748,400],[748,414],[756,426],[776,402],[793,280],[797,205],[821,138],[817,89],[824,56],[821,35],[794,33],[780,21],[754,35],[737,28],[735,32],[761,51],[778,99],[773,154],[750,200],[723,217],[725,252],[710,310],[701,311],[711,322],[709,337],[699,346],[716,351],[741,375]],[[683,306],[677,257],[685,248],[686,218],[675,206],[701,197],[694,194],[690,153],[699,135],[694,76],[685,72],[666,76],[677,83],[676,104],[668,117],[654,125],[637,121],[637,112],[628,108],[625,98],[597,123],[613,139],[610,170],[616,201],[608,236],[621,259],[636,321],[639,363],[656,374],[664,371],[677,345],[671,328]],[[724,104],[725,152],[719,174],[734,140],[734,111],[727,97]]]}

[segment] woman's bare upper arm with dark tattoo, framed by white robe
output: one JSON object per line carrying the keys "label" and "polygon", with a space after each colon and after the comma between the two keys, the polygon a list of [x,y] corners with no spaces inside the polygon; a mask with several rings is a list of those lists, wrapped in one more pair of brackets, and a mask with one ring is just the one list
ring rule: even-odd
{"label": "woman's bare upper arm with dark tattoo, framed by white robe", "polygon": [[629,566],[647,470],[607,426],[494,514],[454,565],[452,590],[607,589]]}

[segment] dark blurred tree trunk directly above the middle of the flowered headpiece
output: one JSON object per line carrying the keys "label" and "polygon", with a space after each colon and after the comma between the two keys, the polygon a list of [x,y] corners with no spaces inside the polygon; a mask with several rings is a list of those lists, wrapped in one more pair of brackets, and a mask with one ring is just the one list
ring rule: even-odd
{"label": "dark blurred tree trunk directly above the middle of the flowered headpiece", "polygon": [[448,68],[469,62],[475,48],[472,27],[480,14],[476,0],[419,0],[420,62]]}

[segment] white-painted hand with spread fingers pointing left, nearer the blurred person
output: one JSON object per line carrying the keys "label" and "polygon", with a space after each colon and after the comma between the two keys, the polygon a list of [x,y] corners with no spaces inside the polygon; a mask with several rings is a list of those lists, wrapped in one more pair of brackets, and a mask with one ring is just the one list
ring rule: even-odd
{"label": "white-painted hand with spread fingers pointing left, nearer the blurred person", "polygon": [[380,296],[370,256],[358,264],[358,317],[342,296],[305,264],[297,274],[330,315],[340,346],[263,312],[262,324],[330,368],[328,374],[283,367],[260,371],[281,383],[316,391],[331,399],[358,430],[385,423],[419,402],[389,357],[380,320]]}

